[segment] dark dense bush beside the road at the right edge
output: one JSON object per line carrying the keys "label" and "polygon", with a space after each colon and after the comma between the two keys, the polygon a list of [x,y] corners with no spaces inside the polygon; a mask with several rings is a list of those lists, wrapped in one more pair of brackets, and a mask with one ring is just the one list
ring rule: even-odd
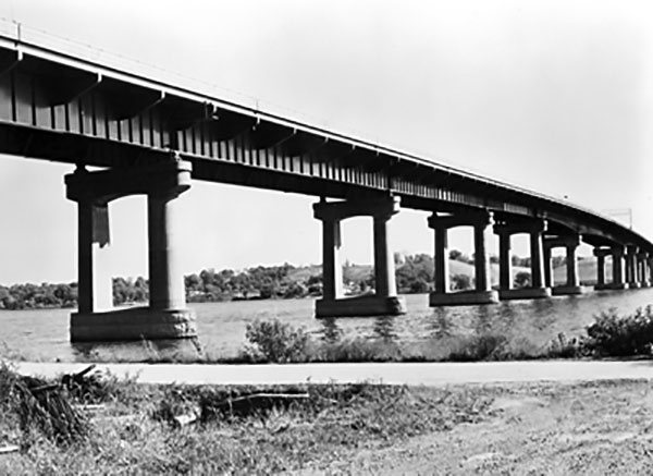
{"label": "dark dense bush beside the road at the right edge", "polygon": [[615,308],[595,316],[587,328],[584,346],[596,356],[624,357],[650,355],[653,344],[653,307],[638,308],[633,315],[619,316]]}

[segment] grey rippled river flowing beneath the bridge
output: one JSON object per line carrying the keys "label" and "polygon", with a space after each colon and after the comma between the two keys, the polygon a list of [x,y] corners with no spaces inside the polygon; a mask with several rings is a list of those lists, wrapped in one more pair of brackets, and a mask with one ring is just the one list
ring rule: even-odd
{"label": "grey rippled river flowing beneath the bridge", "polygon": [[[568,338],[583,334],[593,317],[611,307],[628,314],[653,304],[653,288],[602,291],[581,296],[513,301],[497,305],[430,308],[427,294],[406,296],[408,314],[393,318],[342,318],[335,320],[344,338],[383,337],[409,347],[436,345],[443,329],[454,334],[495,331],[523,346],[542,347],[563,332]],[[197,312],[199,347],[211,358],[233,357],[245,345],[245,329],[255,319],[278,318],[304,327],[319,338],[325,324],[315,319],[313,300],[249,301],[193,304]],[[69,342],[71,309],[1,310],[0,356],[28,361],[143,361],[189,356],[197,345],[183,342],[83,344]]]}

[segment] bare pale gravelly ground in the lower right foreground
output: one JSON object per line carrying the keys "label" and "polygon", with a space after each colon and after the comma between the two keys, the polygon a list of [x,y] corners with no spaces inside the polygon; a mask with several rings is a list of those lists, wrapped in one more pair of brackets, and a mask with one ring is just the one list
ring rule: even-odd
{"label": "bare pale gravelly ground in the lower right foreground", "polygon": [[485,386],[489,417],[298,474],[650,475],[648,381]]}

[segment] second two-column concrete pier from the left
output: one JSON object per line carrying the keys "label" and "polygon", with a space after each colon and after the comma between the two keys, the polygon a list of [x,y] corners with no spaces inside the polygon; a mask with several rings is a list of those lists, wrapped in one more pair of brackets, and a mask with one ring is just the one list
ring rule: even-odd
{"label": "second two-column concrete pier from the left", "polygon": [[[322,221],[323,294],[316,301],[316,317],[382,316],[406,313],[397,296],[394,259],[387,243],[387,222],[399,211],[398,197],[345,202],[322,200],[313,205],[313,215]],[[342,266],[338,260],[342,220],[370,216],[374,234],[374,281],[371,295],[344,297]]]}

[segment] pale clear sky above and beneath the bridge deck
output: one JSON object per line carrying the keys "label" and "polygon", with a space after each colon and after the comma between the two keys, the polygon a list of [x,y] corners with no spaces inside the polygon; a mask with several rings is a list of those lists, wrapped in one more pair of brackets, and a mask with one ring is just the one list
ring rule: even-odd
{"label": "pale clear sky above and beneath the bridge deck", "polygon": [[[615,218],[631,215],[653,239],[652,10],[625,0],[7,0],[0,17],[264,111],[595,211],[627,210]],[[63,186],[72,170],[0,156],[0,283],[76,279],[76,205]],[[184,272],[320,263],[315,202],[195,181],[178,200]],[[110,205],[113,276],[147,276],[145,207],[145,197]],[[394,251],[432,253],[427,216],[393,218]],[[370,220],[345,221],[343,240],[343,259],[371,261]],[[470,231],[453,231],[452,246],[471,252]],[[515,249],[528,254],[522,236]]]}

